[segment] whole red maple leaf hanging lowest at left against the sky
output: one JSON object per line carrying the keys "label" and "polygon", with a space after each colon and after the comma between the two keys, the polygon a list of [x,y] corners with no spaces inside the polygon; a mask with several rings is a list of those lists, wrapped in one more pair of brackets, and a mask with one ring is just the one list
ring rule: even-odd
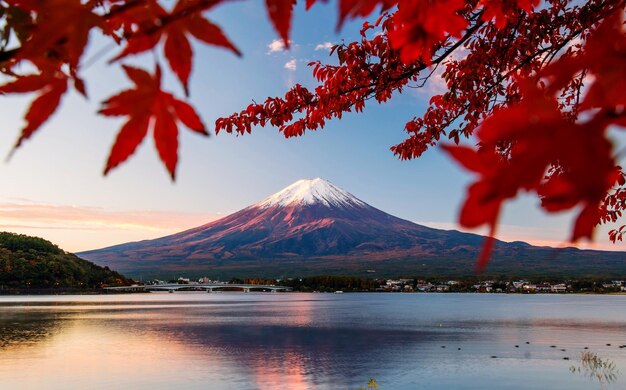
{"label": "whole red maple leaf hanging lowest at left against the sky", "polygon": [[110,97],[99,111],[106,116],[128,116],[111,148],[104,174],[126,161],[152,127],[159,157],[174,180],[178,162],[177,122],[202,135],[209,133],[193,107],[161,90],[160,67],[154,75],[131,66],[123,68],[135,88]]}

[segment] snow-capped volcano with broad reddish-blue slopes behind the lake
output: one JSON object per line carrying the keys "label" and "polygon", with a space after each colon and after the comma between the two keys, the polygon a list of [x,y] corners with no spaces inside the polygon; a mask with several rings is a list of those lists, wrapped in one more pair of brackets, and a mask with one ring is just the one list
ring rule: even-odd
{"label": "snow-capped volcano with broad reddish-blue slopes behind the lake", "polygon": [[[483,241],[394,217],[317,178],[206,225],[78,255],[135,276],[461,276],[472,274]],[[623,276],[626,254],[498,241],[490,271]]]}

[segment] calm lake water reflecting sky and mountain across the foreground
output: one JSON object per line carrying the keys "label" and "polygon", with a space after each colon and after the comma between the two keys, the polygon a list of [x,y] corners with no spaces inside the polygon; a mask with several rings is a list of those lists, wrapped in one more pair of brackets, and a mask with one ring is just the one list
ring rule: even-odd
{"label": "calm lake water reflecting sky and mountain across the foreground", "polygon": [[626,389],[624,344],[626,296],[0,297],[0,389]]}

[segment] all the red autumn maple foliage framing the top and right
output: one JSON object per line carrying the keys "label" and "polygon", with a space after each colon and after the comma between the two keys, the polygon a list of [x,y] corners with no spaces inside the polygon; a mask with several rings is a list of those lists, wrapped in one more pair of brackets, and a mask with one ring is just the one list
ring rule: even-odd
{"label": "all the red autumn maple foliage framing the top and right", "polygon": [[[238,49],[204,14],[222,0],[178,0],[171,10],[159,0],[0,1],[0,72],[13,77],[0,93],[37,96],[16,146],[52,115],[79,77],[90,34],[98,31],[123,46],[113,62],[156,50],[188,93],[193,52],[190,37]],[[307,0],[309,8],[315,0]],[[266,0],[269,19],[289,46],[294,0]],[[500,209],[520,191],[534,192],[548,212],[577,209],[572,240],[591,238],[598,223],[617,222],[626,209],[624,173],[607,132],[626,126],[625,4],[620,0],[338,0],[338,25],[365,22],[361,40],[333,47],[337,65],[312,62],[319,82],[295,85],[216,121],[216,132],[250,133],[272,125],[286,136],[324,127],[365,102],[389,100],[406,87],[441,77],[447,91],[406,123],[408,137],[393,146],[401,159],[419,157],[450,139],[476,148],[444,145],[477,175],[460,221],[489,225],[494,236]],[[379,30],[368,37],[372,30]],[[13,34],[17,47],[9,48]],[[155,60],[157,61],[157,60]],[[28,63],[35,71],[20,74]],[[172,178],[178,161],[178,124],[208,134],[195,110],[161,90],[154,75],[121,65],[135,84],[104,102],[100,114],[127,116],[111,149],[105,174],[132,155],[150,129]],[[610,233],[621,240],[623,226]],[[485,244],[482,269],[494,245]]]}

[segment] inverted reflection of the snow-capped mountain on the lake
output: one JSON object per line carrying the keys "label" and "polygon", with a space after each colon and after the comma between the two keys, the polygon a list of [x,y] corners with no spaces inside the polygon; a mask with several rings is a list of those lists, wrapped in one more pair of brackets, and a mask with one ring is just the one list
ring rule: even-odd
{"label": "inverted reflection of the snow-capped mountain on the lake", "polygon": [[[248,307],[245,313],[230,316],[222,308],[196,307],[192,314],[187,309],[142,309],[92,313],[85,319],[97,319],[109,331],[138,331],[149,338],[142,341],[143,358],[151,355],[150,350],[158,354],[165,349],[172,360],[204,367],[220,364],[228,367],[226,372],[236,373],[225,376],[210,369],[200,374],[211,377],[213,383],[235,380],[243,387],[262,389],[332,388],[335,383],[356,388],[370,373],[402,370],[406,356],[416,361],[422,349],[433,344],[439,348],[444,341],[458,344],[468,337],[462,332],[376,329],[358,324],[303,326],[310,321],[306,317],[292,319],[293,313],[302,313],[300,303],[293,305],[293,312],[285,309],[288,313],[279,314],[274,308],[274,316],[263,307]],[[474,341],[479,338],[485,336],[472,336]]]}

